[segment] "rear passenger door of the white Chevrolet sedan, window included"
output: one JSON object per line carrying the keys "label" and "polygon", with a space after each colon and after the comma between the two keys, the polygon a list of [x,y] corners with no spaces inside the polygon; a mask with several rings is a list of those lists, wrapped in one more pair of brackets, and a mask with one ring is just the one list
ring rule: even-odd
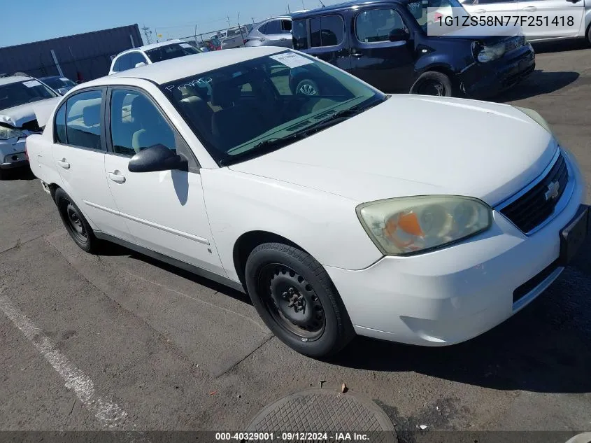
{"label": "rear passenger door of the white Chevrolet sedan, window included", "polygon": [[106,90],[73,94],[55,114],[53,161],[62,188],[93,227],[131,239],[108,188],[104,162],[104,97]]}

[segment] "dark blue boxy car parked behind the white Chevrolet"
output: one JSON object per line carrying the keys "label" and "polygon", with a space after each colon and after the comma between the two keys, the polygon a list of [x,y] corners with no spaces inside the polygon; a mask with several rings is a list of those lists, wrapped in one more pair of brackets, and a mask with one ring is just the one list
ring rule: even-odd
{"label": "dark blue boxy car parked behind the white Chevrolet", "polygon": [[[480,38],[428,36],[428,6],[462,9],[457,0],[327,6],[293,15],[294,48],[386,92],[485,98],[534,71],[534,50],[519,27],[504,29],[512,34]],[[302,85],[308,93],[321,93],[322,84],[314,78],[301,80],[307,80]]]}

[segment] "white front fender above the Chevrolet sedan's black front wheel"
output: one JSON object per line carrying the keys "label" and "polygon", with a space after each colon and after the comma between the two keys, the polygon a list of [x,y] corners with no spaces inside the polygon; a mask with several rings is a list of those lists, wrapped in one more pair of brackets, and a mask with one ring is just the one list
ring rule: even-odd
{"label": "white front fender above the Chevrolet sedan's black front wheel", "polygon": [[293,241],[325,266],[364,269],[382,256],[357,219],[358,202],[300,185],[222,169],[201,169],[215,246],[238,281],[234,245],[245,232]]}

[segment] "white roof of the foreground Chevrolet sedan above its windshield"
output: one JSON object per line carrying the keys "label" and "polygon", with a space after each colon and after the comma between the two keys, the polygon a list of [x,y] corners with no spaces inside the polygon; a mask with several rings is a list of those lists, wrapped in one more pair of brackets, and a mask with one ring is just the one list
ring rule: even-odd
{"label": "white roof of the foreground Chevrolet sedan above its windshield", "polygon": [[287,49],[276,46],[260,46],[257,48],[236,48],[222,51],[203,52],[201,54],[185,55],[162,62],[141,66],[141,68],[128,69],[111,74],[111,76],[97,78],[84,83],[86,87],[115,85],[118,78],[143,78],[159,85],[169,83],[179,78],[197,76],[200,73],[213,71],[232,64],[246,62],[257,57],[273,55]]}

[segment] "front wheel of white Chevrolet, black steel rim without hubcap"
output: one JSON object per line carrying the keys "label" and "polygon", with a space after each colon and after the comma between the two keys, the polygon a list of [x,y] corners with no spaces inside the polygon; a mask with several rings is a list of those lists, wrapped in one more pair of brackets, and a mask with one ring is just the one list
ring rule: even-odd
{"label": "front wheel of white Chevrolet, black steel rim without hubcap", "polygon": [[299,353],[332,356],[355,336],[325,269],[298,248],[280,243],[257,246],[246,261],[245,283],[264,323]]}

